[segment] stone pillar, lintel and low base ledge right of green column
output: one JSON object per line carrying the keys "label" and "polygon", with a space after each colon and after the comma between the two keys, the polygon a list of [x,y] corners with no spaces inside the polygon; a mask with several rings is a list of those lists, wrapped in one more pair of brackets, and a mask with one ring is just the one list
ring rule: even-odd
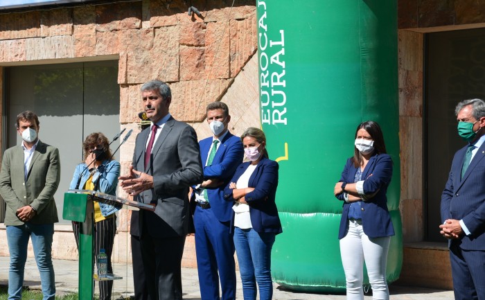
{"label": "stone pillar, lintel and low base ledge right of green column", "polygon": [[482,27],[485,27],[485,0],[398,0],[400,212],[405,242],[400,284],[452,289],[444,240],[432,245],[423,242],[425,34]]}

